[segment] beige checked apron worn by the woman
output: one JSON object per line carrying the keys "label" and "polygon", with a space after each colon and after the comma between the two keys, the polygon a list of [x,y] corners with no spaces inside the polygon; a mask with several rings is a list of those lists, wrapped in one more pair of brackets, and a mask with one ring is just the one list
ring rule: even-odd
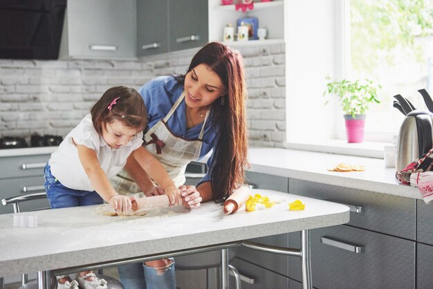
{"label": "beige checked apron worn by the woman", "polygon": [[[184,98],[185,92],[176,100],[172,109],[165,115],[165,118],[156,122],[154,127],[151,127],[145,133],[146,149],[160,161],[176,187],[185,183],[186,166],[192,160],[197,160],[200,157],[205,124],[209,116],[209,111],[207,111],[198,139],[185,140],[181,136],[176,136],[167,127],[167,121],[172,117],[174,111],[176,111]],[[113,178],[111,184],[116,189],[116,192],[120,194],[140,192],[138,186],[127,178],[125,170],[122,170],[118,176]]]}

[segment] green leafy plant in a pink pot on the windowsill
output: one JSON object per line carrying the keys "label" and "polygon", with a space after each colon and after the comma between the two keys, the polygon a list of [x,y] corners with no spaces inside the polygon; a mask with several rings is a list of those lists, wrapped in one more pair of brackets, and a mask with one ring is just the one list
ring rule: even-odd
{"label": "green leafy plant in a pink pot on the windowsill", "polygon": [[[330,80],[329,77],[326,77]],[[382,88],[373,80],[330,80],[326,84],[323,95],[335,95],[344,111],[347,142],[362,142],[364,140],[365,112],[371,102],[380,103],[377,91]],[[328,103],[329,100],[326,100]]]}

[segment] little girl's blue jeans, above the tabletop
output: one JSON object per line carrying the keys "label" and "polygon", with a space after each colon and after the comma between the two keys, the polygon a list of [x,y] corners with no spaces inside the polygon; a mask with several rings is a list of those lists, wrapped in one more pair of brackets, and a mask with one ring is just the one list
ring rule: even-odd
{"label": "little girl's blue jeans, above the tabletop", "polygon": [[60,207],[78,207],[87,205],[99,205],[104,203],[104,200],[97,192],[80,191],[77,189],[69,189],[51,174],[50,166],[47,164],[45,172],[45,191],[50,206],[53,209]]}

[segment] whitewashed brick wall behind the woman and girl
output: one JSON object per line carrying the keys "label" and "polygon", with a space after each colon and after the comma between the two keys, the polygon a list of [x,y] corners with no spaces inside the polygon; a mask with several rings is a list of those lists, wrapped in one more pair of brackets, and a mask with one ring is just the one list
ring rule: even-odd
{"label": "whitewashed brick wall behind the woman and girl", "polygon": [[[284,44],[238,48],[246,66],[250,145],[285,140]],[[122,60],[0,59],[0,136],[65,136],[111,86],[184,73],[196,50]]]}

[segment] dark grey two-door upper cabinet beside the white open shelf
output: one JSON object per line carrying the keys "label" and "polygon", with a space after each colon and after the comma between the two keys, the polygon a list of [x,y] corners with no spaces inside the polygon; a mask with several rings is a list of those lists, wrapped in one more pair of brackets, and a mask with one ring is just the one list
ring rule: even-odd
{"label": "dark grey two-door upper cabinet beside the white open shelf", "polygon": [[153,55],[208,42],[208,1],[137,0],[137,55]]}

